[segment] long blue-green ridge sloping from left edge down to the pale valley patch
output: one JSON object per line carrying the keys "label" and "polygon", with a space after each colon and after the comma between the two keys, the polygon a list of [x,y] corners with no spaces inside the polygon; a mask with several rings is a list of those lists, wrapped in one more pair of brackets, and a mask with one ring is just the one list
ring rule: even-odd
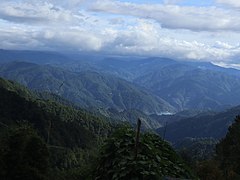
{"label": "long blue-green ridge sloping from left edge down to the pale valley patch", "polygon": [[106,74],[74,73],[48,65],[14,62],[1,65],[0,76],[33,90],[58,94],[84,108],[136,109],[146,114],[175,111],[161,98]]}

